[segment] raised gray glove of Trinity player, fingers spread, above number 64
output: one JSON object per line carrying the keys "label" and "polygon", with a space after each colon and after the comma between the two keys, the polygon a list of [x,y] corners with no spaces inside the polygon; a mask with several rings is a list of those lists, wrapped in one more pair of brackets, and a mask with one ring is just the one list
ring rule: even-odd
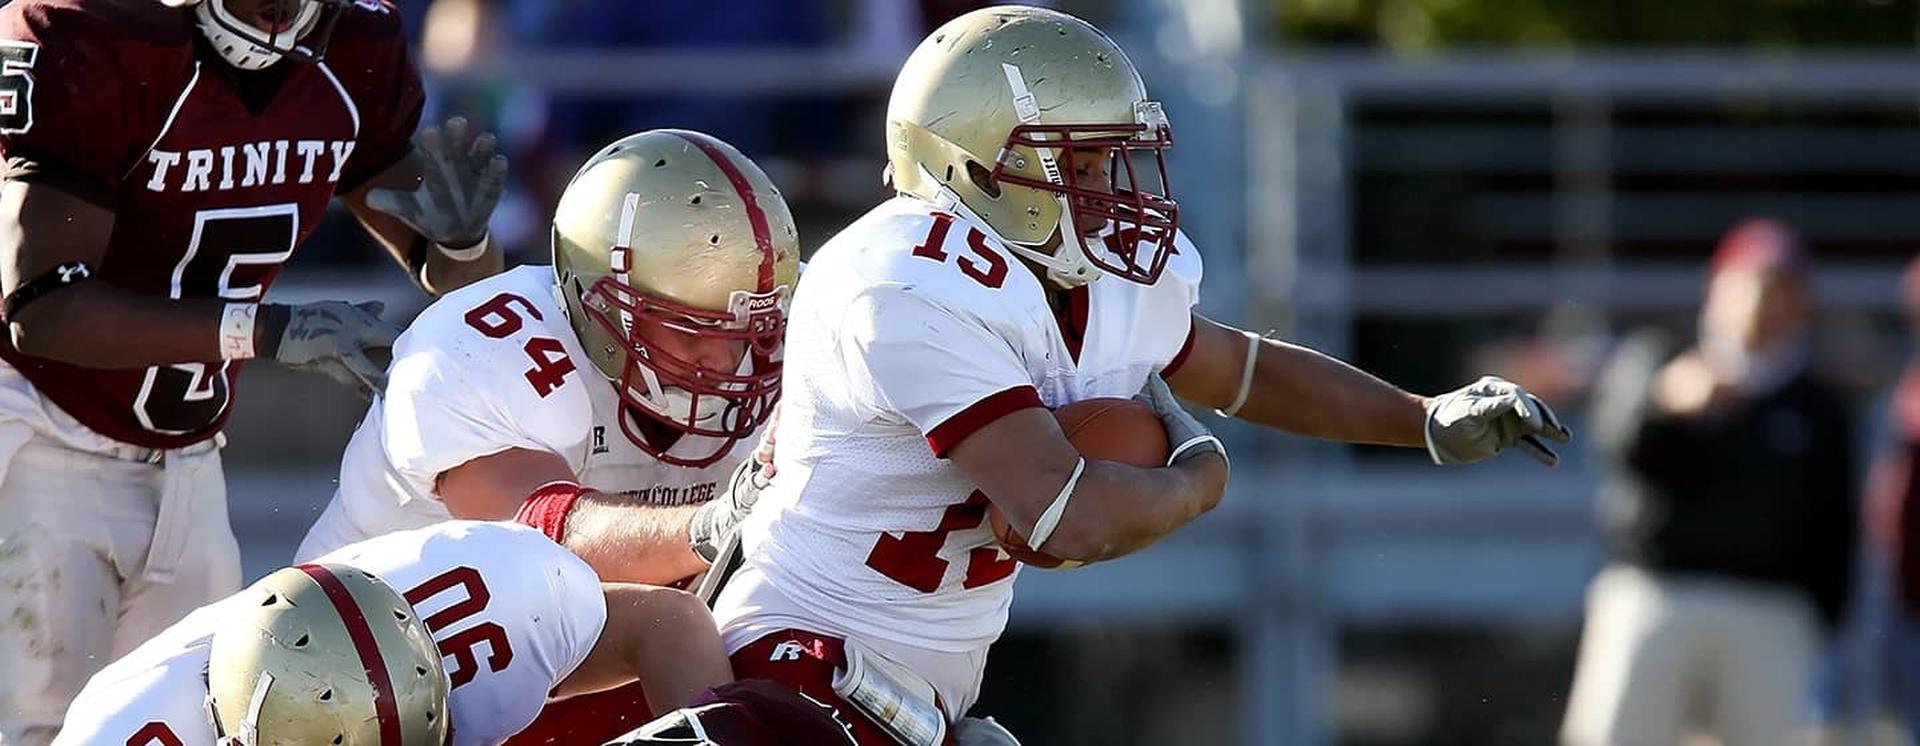
{"label": "raised gray glove of Trinity player, fingers spread, above number 64", "polygon": [[419,140],[420,186],[371,190],[367,205],[449,249],[480,244],[507,188],[507,155],[495,155],[493,148],[493,132],[474,136],[465,117],[428,127]]}

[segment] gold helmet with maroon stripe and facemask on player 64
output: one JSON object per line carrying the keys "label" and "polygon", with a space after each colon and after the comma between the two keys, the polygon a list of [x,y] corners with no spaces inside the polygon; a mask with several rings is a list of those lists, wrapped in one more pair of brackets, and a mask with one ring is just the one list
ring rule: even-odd
{"label": "gold helmet with maroon stripe and facemask on player 64", "polygon": [[[701,132],[647,130],[601,148],[553,213],[553,272],[593,366],[639,414],[720,439],[676,456],[620,416],[628,439],[668,464],[712,464],[772,414],[799,261],[774,182]],[[743,353],[720,370],[649,334],[732,339]]]}

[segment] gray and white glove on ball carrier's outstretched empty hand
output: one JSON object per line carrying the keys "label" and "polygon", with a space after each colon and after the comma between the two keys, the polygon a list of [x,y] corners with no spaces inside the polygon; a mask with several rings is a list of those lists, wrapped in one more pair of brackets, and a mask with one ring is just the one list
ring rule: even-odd
{"label": "gray and white glove on ball carrier's outstretched empty hand", "polygon": [[1440,466],[1471,464],[1513,447],[1553,466],[1559,455],[1546,441],[1571,439],[1572,431],[1540,397],[1498,376],[1484,376],[1427,405],[1427,453]]}

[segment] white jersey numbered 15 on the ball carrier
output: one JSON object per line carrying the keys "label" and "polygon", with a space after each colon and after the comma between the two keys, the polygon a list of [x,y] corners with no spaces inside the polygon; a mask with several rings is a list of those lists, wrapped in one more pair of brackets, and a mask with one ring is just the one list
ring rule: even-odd
{"label": "white jersey numbered 15 on the ball carrier", "polygon": [[920,673],[964,711],[1018,564],[941,455],[1021,407],[1131,397],[1181,359],[1200,255],[1175,245],[1154,286],[1069,293],[1064,315],[1085,318],[1069,339],[1039,276],[962,205],[895,198],[828,242],[787,328],[780,476],[714,610],[730,650],[801,627],[895,660],[948,654],[966,664]]}

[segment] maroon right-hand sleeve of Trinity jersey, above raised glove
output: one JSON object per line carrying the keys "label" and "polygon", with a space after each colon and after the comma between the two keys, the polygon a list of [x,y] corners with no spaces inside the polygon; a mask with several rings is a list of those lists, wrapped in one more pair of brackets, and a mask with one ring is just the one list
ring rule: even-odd
{"label": "maroon right-hand sleeve of Trinity jersey, above raised glove", "polygon": [[359,107],[359,138],[340,175],[336,192],[353,192],[369,178],[413,152],[426,94],[420,71],[407,54],[399,13],[384,0],[359,0],[340,19],[326,52],[326,65],[340,77]]}

